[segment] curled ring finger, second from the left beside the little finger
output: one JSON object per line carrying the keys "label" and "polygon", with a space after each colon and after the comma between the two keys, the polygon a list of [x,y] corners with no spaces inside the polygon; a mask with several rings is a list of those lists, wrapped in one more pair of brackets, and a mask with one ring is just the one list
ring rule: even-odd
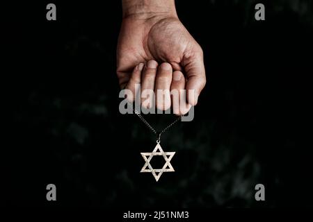
{"label": "curled ring finger, second from the left beside the little finger", "polygon": [[151,108],[154,102],[154,81],[157,75],[158,63],[154,60],[147,62],[141,75],[141,104],[143,108]]}

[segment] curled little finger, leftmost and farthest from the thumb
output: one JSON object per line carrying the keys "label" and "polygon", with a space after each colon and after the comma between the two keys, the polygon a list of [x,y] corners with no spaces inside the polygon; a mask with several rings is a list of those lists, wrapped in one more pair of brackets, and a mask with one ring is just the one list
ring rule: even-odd
{"label": "curled little finger, leftmost and farthest from the thumb", "polygon": [[125,89],[129,89],[131,92],[130,94],[127,94],[127,99],[131,102],[135,100],[138,89],[140,89],[139,84],[141,84],[141,71],[142,70],[143,70],[143,63],[136,65],[125,87]]}

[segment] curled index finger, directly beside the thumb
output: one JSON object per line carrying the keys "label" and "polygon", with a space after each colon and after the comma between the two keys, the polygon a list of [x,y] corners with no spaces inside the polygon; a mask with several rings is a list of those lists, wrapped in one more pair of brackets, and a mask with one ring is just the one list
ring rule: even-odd
{"label": "curled index finger, directly beside the thumb", "polygon": [[172,74],[172,84],[170,85],[170,95],[172,99],[172,110],[176,115],[186,114],[191,105],[186,103],[185,91],[186,79],[181,71],[174,71]]}

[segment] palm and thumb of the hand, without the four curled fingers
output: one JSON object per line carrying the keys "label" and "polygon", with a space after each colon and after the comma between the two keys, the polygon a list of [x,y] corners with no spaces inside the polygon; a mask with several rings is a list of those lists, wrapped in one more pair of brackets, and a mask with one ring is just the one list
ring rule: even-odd
{"label": "palm and thumb of the hand, without the four curled fingers", "polygon": [[[168,62],[173,71],[182,71],[186,78],[187,101],[196,105],[206,83],[203,53],[177,17],[154,15],[146,19],[131,16],[123,19],[117,49],[120,87],[129,83],[136,65],[149,60]],[[188,89],[194,89],[195,96],[189,98]]]}

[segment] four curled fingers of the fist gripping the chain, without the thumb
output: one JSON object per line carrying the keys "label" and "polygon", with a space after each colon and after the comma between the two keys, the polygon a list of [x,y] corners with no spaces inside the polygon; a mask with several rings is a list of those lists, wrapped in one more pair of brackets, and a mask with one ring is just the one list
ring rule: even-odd
{"label": "four curled fingers of the fist gripping the chain, without the thumb", "polygon": [[136,65],[127,83],[126,89],[129,91],[125,92],[129,101],[134,101],[138,93],[136,84],[141,82],[141,105],[144,108],[154,108],[155,104],[159,110],[167,110],[172,106],[173,113],[177,115],[186,114],[190,110],[191,105],[186,102],[184,93],[184,75],[182,71],[173,72],[168,62],[163,62],[159,67],[154,60],[147,62],[147,65]]}

